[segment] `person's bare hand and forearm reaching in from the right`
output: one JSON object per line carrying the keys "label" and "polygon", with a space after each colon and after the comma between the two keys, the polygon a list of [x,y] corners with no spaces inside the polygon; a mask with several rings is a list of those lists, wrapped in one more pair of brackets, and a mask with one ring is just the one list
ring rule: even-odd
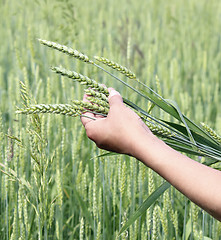
{"label": "person's bare hand and forearm reaching in from the right", "polygon": [[92,113],[82,117],[87,136],[99,148],[128,154],[143,162],[191,201],[221,221],[221,172],[173,150],[154,136],[139,116],[109,88],[110,111],[106,118]]}

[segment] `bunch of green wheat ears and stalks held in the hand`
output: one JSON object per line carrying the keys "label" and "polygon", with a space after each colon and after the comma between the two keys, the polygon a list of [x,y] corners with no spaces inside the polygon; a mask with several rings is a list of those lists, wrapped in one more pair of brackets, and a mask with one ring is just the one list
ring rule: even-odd
{"label": "bunch of green wheat ears and stalks held in the hand", "polygon": [[[82,54],[77,50],[73,50],[67,46],[39,39],[39,42],[49,48],[56,49],[71,57],[79,59],[85,63],[92,64],[95,67],[103,70],[111,77],[117,79],[126,87],[132,89],[140,97],[144,98],[147,102],[150,101],[152,106],[159,107],[174,119],[179,120],[180,124],[161,120],[150,115],[149,110],[141,109],[139,106],[125,99],[124,103],[133,108],[143,121],[147,124],[150,130],[176,150],[197,155],[205,156],[207,159],[204,164],[211,165],[221,160],[221,137],[206,124],[196,125],[186,116],[184,116],[175,102],[165,100],[162,96],[157,94],[147,85],[139,81],[136,75],[128,68],[123,67],[113,61],[104,57],[95,56],[94,59],[116,71],[120,72],[127,78],[137,81],[139,84],[138,89],[132,87],[125,81],[117,76],[108,72],[106,69],[89,59],[88,56]],[[94,79],[84,76],[80,73],[67,70],[62,67],[51,67],[52,71],[62,76],[68,77],[75,82],[85,85],[85,93],[88,102],[83,100],[73,100],[72,104],[37,104],[20,108],[17,113],[34,114],[34,113],[53,113],[63,114],[67,116],[84,116],[85,112],[93,112],[102,116],[107,116],[109,111],[108,104],[108,90],[103,84],[98,83]],[[88,116],[87,116],[88,117]]]}

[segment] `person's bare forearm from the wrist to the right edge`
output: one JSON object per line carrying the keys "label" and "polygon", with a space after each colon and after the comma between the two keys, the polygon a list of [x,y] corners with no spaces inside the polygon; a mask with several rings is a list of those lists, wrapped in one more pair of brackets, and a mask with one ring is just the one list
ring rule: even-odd
{"label": "person's bare forearm from the wrist to the right edge", "polygon": [[154,136],[140,140],[133,156],[221,221],[221,172],[180,154]]}

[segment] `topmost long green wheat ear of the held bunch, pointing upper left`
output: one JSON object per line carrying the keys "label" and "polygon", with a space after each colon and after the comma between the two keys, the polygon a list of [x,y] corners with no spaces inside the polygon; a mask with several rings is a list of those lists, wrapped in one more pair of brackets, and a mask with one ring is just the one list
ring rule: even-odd
{"label": "topmost long green wheat ear of the held bunch, pointing upper left", "polygon": [[93,64],[93,61],[91,61],[87,55],[85,55],[85,54],[83,54],[83,53],[81,53],[81,52],[79,52],[77,50],[69,48],[69,47],[67,47],[65,45],[61,45],[59,43],[55,43],[55,42],[51,42],[51,41],[47,41],[47,40],[43,40],[43,39],[38,39],[38,41],[41,44],[43,44],[43,45],[45,45],[47,47],[56,49],[56,50],[58,50],[60,52],[63,52],[65,54],[69,55],[69,56],[77,58],[77,59],[79,59],[79,60],[81,60],[83,62],[87,62],[87,63]]}

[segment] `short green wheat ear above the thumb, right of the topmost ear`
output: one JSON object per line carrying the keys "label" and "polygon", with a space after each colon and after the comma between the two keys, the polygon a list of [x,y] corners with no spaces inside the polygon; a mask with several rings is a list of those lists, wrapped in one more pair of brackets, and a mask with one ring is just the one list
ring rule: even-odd
{"label": "short green wheat ear above the thumb, right of the topmost ear", "polygon": [[130,78],[130,79],[133,79],[133,80],[139,81],[139,80],[137,79],[135,73],[133,73],[133,72],[132,72],[131,70],[129,70],[128,68],[123,67],[123,66],[121,66],[120,64],[118,64],[118,63],[116,63],[116,62],[113,62],[113,61],[111,61],[111,60],[109,60],[109,59],[107,59],[107,58],[104,58],[104,57],[94,56],[94,58],[95,58],[97,61],[99,61],[99,62],[107,65],[108,67],[117,70],[118,72],[122,73],[122,74],[125,75],[126,77],[128,77],[128,78]]}

